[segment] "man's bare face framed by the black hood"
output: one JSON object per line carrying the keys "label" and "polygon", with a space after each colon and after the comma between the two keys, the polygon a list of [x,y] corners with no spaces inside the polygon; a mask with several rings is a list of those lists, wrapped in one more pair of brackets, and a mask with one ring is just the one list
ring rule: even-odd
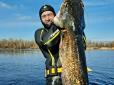
{"label": "man's bare face framed by the black hood", "polygon": [[50,25],[54,19],[54,13],[52,11],[45,11],[41,14],[41,19],[44,24]]}

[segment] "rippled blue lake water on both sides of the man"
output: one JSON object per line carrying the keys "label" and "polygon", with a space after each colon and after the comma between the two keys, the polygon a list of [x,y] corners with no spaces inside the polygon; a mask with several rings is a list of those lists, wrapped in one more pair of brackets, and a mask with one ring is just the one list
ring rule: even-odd
{"label": "rippled blue lake water on both sides of the man", "polygon": [[[90,85],[114,85],[114,50],[86,52]],[[39,51],[0,52],[0,85],[45,85]]]}

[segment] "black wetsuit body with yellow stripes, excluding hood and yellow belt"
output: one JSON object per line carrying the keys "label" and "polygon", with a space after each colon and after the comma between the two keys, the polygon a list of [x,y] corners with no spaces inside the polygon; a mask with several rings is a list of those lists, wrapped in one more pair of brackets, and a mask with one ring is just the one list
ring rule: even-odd
{"label": "black wetsuit body with yellow stripes, excluding hood and yellow belt", "polygon": [[[59,60],[60,30],[54,24],[50,29],[41,28],[35,32],[35,41],[46,58],[46,70],[61,68]],[[46,85],[62,85],[61,72],[46,75]]]}

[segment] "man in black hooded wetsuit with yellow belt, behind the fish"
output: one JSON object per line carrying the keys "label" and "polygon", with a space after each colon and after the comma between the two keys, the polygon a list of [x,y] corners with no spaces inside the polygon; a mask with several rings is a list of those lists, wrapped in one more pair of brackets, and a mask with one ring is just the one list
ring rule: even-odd
{"label": "man in black hooded wetsuit with yellow belt, behind the fish", "polygon": [[[62,65],[59,60],[60,30],[53,24],[56,14],[53,7],[44,5],[40,8],[39,16],[44,28],[36,30],[35,41],[46,58],[46,85],[62,85]],[[80,29],[84,29],[83,16],[81,22]]]}

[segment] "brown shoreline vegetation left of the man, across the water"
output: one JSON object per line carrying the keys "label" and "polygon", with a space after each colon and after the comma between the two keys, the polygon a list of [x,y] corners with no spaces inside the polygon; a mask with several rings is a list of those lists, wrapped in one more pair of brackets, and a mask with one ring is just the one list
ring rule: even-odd
{"label": "brown shoreline vegetation left of the man, across the water", "polygon": [[23,39],[2,39],[0,40],[1,49],[36,49],[34,40],[23,40]]}

